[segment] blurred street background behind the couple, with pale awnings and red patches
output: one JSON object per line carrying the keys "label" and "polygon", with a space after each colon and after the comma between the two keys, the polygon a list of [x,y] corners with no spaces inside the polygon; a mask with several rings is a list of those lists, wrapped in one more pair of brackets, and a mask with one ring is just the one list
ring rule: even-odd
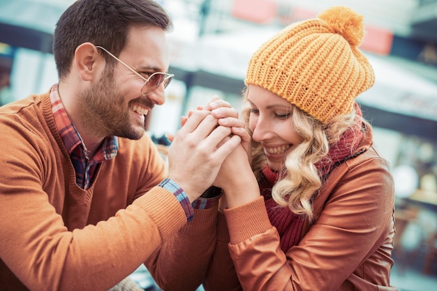
{"label": "blurred street background behind the couple, with pale awnings and red patches", "polygon": [[[102,0],[104,1],[104,0]],[[392,285],[437,286],[437,0],[159,0],[175,24],[168,34],[175,80],[147,119],[157,145],[180,116],[214,95],[239,108],[246,65],[284,26],[343,5],[364,15],[361,49],[376,84],[358,97],[375,146],[392,166],[397,235]],[[57,83],[52,32],[73,0],[0,0],[0,105]],[[132,275],[158,290],[147,270]]]}

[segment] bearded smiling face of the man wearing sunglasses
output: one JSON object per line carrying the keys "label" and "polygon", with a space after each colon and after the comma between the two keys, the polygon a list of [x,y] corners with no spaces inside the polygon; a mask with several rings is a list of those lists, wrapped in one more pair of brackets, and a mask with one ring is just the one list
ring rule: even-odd
{"label": "bearded smiling face of the man wearing sunglasses", "polygon": [[[119,59],[136,72],[148,77],[153,72],[167,72],[168,45],[165,31],[156,27],[132,28],[126,48]],[[108,67],[107,67],[108,68]],[[82,95],[81,118],[96,136],[115,135],[140,139],[145,133],[145,116],[165,102],[163,85],[141,95],[145,81],[116,61],[105,70],[101,80]]]}

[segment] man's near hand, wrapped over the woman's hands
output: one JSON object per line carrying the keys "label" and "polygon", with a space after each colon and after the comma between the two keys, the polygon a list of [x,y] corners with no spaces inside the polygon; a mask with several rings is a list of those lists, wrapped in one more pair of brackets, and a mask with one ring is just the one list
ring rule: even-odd
{"label": "man's near hand, wrapped over the woman's hands", "polygon": [[212,185],[225,158],[240,146],[241,137],[231,133],[205,110],[193,111],[177,132],[168,151],[168,178],[191,202]]}

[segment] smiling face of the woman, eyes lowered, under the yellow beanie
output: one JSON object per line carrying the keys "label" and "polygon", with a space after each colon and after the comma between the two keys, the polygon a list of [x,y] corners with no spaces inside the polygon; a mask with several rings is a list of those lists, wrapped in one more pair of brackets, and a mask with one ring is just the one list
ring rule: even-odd
{"label": "smiling face of the woman, eyes lowered, under the yellow beanie", "polygon": [[248,90],[252,138],[262,145],[268,166],[279,171],[285,166],[286,155],[302,142],[292,122],[292,105],[265,88],[249,85]]}

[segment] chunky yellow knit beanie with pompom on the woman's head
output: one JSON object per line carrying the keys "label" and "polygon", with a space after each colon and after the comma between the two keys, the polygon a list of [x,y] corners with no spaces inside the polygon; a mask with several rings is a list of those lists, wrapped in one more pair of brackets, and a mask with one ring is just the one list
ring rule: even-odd
{"label": "chunky yellow knit beanie with pompom on the woman's head", "polygon": [[251,57],[245,83],[328,123],[350,113],[355,98],[373,86],[373,69],[357,49],[363,38],[362,15],[347,7],[329,8],[267,40]]}

